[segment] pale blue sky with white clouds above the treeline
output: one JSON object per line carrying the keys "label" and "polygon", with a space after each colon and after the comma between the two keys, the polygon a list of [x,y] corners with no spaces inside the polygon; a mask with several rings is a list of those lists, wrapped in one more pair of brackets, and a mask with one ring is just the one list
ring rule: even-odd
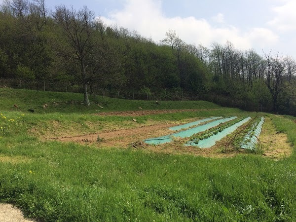
{"label": "pale blue sky with white clouds above the treeline", "polygon": [[[3,0],[0,0],[0,2]],[[296,59],[296,0],[45,0],[47,7],[86,5],[109,26],[155,42],[170,29],[187,44],[280,53]]]}

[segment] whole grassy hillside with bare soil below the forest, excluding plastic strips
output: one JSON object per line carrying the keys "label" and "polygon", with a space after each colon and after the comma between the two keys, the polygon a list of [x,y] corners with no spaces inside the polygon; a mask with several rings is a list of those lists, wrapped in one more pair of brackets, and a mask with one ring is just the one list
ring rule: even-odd
{"label": "whole grassy hillside with bare soil below the forest, excluding plastic strips", "polygon": [[[296,220],[295,117],[204,101],[159,105],[91,97],[87,108],[80,104],[81,94],[9,88],[0,93],[0,202],[19,207],[26,217],[49,222]],[[104,109],[98,110],[98,103]],[[225,146],[261,116],[261,146],[245,150],[235,141]],[[172,126],[208,117],[214,127],[207,134],[241,119],[253,122],[212,148],[185,147],[186,138],[163,145],[144,142],[172,134]],[[202,133],[194,136],[216,135]]]}

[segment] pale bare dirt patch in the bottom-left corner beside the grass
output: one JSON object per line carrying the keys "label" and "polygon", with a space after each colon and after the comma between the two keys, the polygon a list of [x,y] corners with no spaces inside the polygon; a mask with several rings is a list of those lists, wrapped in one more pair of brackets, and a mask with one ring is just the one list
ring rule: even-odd
{"label": "pale bare dirt patch in the bottom-left corner beside the grass", "polygon": [[0,222],[35,222],[24,218],[23,213],[11,204],[0,204]]}

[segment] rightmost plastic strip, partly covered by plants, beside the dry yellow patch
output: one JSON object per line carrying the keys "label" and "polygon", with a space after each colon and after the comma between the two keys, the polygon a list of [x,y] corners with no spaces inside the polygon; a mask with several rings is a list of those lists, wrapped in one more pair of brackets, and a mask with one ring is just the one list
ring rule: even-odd
{"label": "rightmost plastic strip, partly covered by plants, beside the dry yellow patch", "polygon": [[261,120],[256,126],[256,129],[254,131],[249,131],[249,133],[247,133],[247,135],[244,137],[244,140],[240,146],[241,148],[251,150],[256,148],[256,144],[258,143],[258,137],[261,134],[263,122],[264,117],[261,117]]}

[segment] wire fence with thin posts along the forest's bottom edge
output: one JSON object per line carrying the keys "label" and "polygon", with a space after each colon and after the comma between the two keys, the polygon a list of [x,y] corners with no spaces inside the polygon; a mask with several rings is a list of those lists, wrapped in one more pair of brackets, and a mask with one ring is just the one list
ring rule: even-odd
{"label": "wire fence with thin posts along the forest's bottom edge", "polygon": [[[15,89],[31,89],[55,92],[74,92],[83,93],[83,86],[77,82],[71,81],[54,81],[54,80],[32,80],[32,79],[14,79],[0,78],[0,87],[9,87]],[[100,88],[93,85],[88,86],[90,95],[129,99],[129,100],[151,100],[151,101],[188,101],[188,100],[204,100],[227,107],[237,107],[249,111],[269,111],[262,105],[252,104],[248,101],[235,100],[223,95],[212,93],[196,94],[193,92],[185,92],[182,89],[159,89],[154,91],[143,91],[137,89],[114,89]]]}

